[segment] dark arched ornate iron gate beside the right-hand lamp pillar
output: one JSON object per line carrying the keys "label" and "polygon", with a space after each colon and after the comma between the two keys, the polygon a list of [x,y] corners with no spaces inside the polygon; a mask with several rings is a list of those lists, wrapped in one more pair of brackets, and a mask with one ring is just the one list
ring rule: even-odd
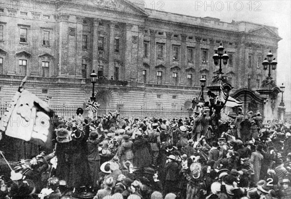
{"label": "dark arched ornate iron gate beside the right-hand lamp pillar", "polygon": [[[249,111],[253,111],[254,114],[260,112],[261,116],[264,116],[264,99],[260,98],[254,91],[247,88],[241,88],[232,94],[231,97],[239,101],[243,101],[243,115],[247,115]],[[236,115],[237,111],[238,107],[234,107],[231,109],[230,114]]]}

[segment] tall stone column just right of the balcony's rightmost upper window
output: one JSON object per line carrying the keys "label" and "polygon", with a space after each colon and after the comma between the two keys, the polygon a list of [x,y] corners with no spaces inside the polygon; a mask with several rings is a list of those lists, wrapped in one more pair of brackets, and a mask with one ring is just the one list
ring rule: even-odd
{"label": "tall stone column just right of the balcony's rightmost upper window", "polygon": [[132,40],[132,29],[133,25],[132,24],[126,24],[126,40],[125,40],[125,57],[124,57],[124,64],[123,64],[123,77],[126,80],[130,79],[130,69],[132,67],[131,65],[131,40]]}

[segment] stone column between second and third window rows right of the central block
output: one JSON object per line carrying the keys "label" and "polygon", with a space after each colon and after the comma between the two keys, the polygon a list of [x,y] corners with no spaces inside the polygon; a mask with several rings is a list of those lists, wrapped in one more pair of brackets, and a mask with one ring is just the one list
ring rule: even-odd
{"label": "stone column between second and third window rows right of the central block", "polygon": [[171,49],[172,49],[172,36],[173,36],[173,32],[166,32],[166,69],[165,69],[165,74],[164,74],[164,78],[165,78],[165,84],[166,85],[171,85],[171,61],[172,61],[172,55],[171,55]]}

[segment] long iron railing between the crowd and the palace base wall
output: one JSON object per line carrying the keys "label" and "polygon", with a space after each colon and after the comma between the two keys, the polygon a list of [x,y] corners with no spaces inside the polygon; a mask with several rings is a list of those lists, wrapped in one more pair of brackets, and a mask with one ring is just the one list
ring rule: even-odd
{"label": "long iron railing between the crowd and the palace base wall", "polygon": [[[9,104],[0,104],[0,116],[4,114]],[[64,105],[50,105],[49,106],[55,114],[58,116],[63,116],[65,118],[76,117],[76,111],[80,106],[64,106]],[[85,110],[85,107],[81,107]],[[107,108],[99,108],[97,115],[105,115],[109,112],[114,113],[118,111],[120,113],[120,117],[124,118],[145,118],[145,117],[156,117],[156,118],[181,118],[181,117],[189,117],[192,115],[192,111],[184,110],[184,109],[168,109],[168,108],[144,108],[144,107],[107,107]],[[88,112],[84,111],[83,116],[87,117]]]}

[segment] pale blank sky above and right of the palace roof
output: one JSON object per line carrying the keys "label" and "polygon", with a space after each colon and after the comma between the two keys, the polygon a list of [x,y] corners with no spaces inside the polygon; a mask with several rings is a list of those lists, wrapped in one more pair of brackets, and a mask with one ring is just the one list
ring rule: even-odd
{"label": "pale blank sky above and right of the palace roof", "polygon": [[[138,1],[137,1],[138,2]],[[224,22],[249,21],[278,28],[282,38],[276,60],[277,85],[286,86],[284,100],[291,107],[291,1],[290,0],[143,0],[146,8]],[[279,94],[281,97],[281,94]]]}

